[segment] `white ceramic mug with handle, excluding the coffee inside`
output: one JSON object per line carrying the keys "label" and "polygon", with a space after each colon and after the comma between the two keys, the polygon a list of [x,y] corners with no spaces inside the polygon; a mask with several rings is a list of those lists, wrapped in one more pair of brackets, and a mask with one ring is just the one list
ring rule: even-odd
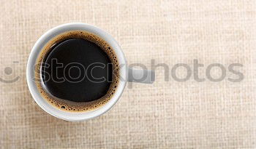
{"label": "white ceramic mug with handle, excluding the coffee inside", "polygon": [[[39,52],[41,51],[42,47],[44,47],[45,44],[47,44],[48,41],[50,41],[50,39],[53,39],[53,37],[55,37],[56,35],[73,30],[88,31],[101,37],[103,40],[108,42],[111,47],[113,47],[113,50],[115,50],[118,58],[118,63],[119,65],[122,65],[122,67],[119,69],[119,75],[122,79],[119,81],[118,87],[113,97],[107,103],[105,103],[105,105],[102,105],[95,110],[86,112],[68,112],[53,107],[53,105],[50,105],[50,103],[48,103],[48,101],[46,101],[41,96],[34,82],[34,65],[36,64],[37,57],[39,56]],[[112,108],[113,105],[115,105],[118,99],[121,97],[122,92],[124,92],[127,81],[137,81],[141,83],[151,84],[154,81],[155,75],[154,71],[135,70],[132,68],[128,68],[124,53],[122,52],[118,43],[115,39],[113,39],[112,36],[110,36],[105,31],[102,31],[101,29],[93,25],[88,25],[86,23],[68,23],[50,29],[37,40],[29,55],[29,61],[26,69],[26,78],[32,97],[43,110],[45,110],[52,116],[56,116],[57,118],[61,118],[67,121],[83,121],[89,118],[100,116],[110,110],[110,108]]]}

